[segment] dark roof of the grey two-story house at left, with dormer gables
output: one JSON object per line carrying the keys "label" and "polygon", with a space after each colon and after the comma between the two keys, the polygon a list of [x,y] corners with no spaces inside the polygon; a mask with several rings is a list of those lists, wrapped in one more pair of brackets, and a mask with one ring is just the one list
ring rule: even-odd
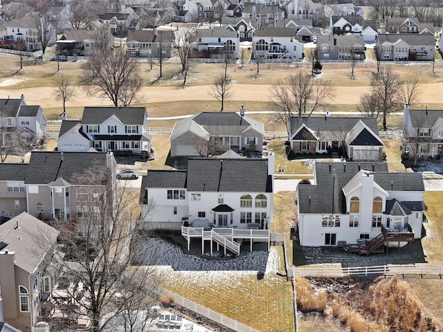
{"label": "dark roof of the grey two-story house at left, with dormer gables", "polygon": [[[106,152],[63,152],[62,160],[61,152],[33,151],[30,154],[25,184],[47,184],[57,178],[64,178],[69,183],[78,182],[76,181],[78,176],[91,167],[106,166],[106,154]],[[84,184],[88,184],[88,181],[85,179]]]}

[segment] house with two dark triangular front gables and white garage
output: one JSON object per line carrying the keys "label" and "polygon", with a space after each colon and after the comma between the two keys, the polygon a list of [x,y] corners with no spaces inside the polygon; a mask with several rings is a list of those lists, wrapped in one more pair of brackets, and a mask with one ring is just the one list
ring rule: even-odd
{"label": "house with two dark triangular front gables and white garage", "polygon": [[383,142],[377,119],[293,116],[289,138],[295,154],[326,154],[341,151],[351,160],[381,160]]}

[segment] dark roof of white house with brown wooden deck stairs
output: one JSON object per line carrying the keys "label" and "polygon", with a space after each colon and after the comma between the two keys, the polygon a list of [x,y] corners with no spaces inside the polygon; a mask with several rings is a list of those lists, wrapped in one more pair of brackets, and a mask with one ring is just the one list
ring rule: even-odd
{"label": "dark roof of white house with brown wooden deck stairs", "polygon": [[[329,165],[331,172],[329,172]],[[373,170],[374,182],[380,185],[383,190],[390,192],[424,191],[422,174],[389,173],[386,163],[316,163],[317,185],[298,185],[298,207],[300,212],[317,214],[346,213],[345,195],[342,188],[359,172],[359,168],[370,172]],[[333,201],[334,208],[332,206]]]}

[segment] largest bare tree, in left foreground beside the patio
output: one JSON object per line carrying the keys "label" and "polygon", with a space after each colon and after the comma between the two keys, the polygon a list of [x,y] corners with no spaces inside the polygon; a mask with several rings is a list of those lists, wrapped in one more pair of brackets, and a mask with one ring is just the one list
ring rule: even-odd
{"label": "largest bare tree, in left foreground beside the patio", "polygon": [[[113,331],[115,317],[138,310],[136,299],[156,298],[146,285],[158,282],[151,267],[158,252],[144,246],[145,235],[138,228],[140,222],[134,220],[136,193],[125,185],[117,187],[114,177],[103,165],[91,165],[83,174],[75,174],[71,190],[78,203],[71,207],[73,220],[53,222],[64,249],[55,254],[64,271],[59,279],[71,285],[65,289],[73,299],[71,319],[88,317],[93,332]],[[84,185],[85,179],[88,185]],[[39,243],[45,240],[44,234],[38,239]],[[145,266],[133,265],[135,262]]]}

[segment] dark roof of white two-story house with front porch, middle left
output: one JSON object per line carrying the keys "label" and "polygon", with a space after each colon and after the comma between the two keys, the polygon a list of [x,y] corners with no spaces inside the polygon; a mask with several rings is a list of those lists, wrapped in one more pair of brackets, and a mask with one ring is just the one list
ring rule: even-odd
{"label": "dark roof of white two-story house with front porch, middle left", "polygon": [[123,124],[143,124],[145,107],[84,107],[82,124],[101,124],[115,115]]}

